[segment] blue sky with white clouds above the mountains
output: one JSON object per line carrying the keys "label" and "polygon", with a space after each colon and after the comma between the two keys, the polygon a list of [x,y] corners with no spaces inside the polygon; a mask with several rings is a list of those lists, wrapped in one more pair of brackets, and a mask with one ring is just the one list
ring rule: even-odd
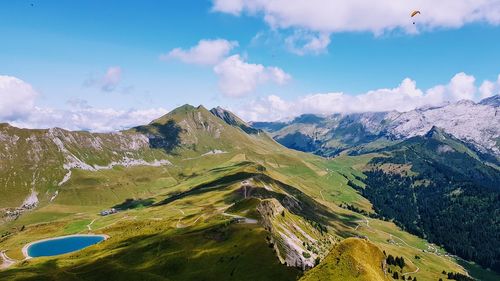
{"label": "blue sky with white clouds above the mountains", "polygon": [[0,122],[19,127],[408,111],[498,94],[499,74],[500,0],[0,1]]}

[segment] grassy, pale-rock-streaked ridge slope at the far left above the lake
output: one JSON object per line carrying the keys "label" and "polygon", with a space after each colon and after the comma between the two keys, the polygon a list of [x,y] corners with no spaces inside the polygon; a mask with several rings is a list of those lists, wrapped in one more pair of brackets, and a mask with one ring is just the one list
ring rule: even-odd
{"label": "grassy, pale-rock-streaked ridge slope at the far left above the lake", "polygon": [[2,124],[0,144],[0,208],[47,204],[74,168],[95,171],[110,164],[144,164],[166,157],[152,151],[143,135],[128,132],[27,130]]}

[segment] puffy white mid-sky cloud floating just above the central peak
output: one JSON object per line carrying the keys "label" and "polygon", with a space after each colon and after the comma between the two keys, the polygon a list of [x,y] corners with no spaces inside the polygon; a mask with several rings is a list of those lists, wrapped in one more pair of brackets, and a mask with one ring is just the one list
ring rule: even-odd
{"label": "puffy white mid-sky cloud floating just above the central peak", "polygon": [[291,79],[281,68],[247,63],[239,55],[230,56],[217,64],[214,72],[219,79],[220,91],[228,97],[245,96],[269,81],[281,85]]}

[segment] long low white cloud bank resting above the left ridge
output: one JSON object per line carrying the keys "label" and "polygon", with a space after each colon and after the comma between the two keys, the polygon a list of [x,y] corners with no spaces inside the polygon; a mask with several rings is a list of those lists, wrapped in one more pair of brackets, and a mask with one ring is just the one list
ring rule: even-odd
{"label": "long low white cloud bank resting above the left ridge", "polygon": [[148,124],[168,112],[164,108],[94,108],[78,98],[67,102],[69,109],[54,109],[37,106],[37,96],[30,84],[16,77],[0,75],[0,122],[23,128],[60,127],[104,132]]}

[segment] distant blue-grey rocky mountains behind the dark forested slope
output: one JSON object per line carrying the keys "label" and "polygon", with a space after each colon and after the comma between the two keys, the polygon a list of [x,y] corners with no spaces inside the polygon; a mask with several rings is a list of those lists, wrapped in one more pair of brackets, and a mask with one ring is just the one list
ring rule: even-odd
{"label": "distant blue-grey rocky mountains behind the dark forested slope", "polygon": [[500,157],[499,96],[479,103],[459,101],[409,112],[302,115],[289,122],[254,122],[286,147],[335,156],[370,152],[413,136],[433,126],[466,142],[481,153]]}

